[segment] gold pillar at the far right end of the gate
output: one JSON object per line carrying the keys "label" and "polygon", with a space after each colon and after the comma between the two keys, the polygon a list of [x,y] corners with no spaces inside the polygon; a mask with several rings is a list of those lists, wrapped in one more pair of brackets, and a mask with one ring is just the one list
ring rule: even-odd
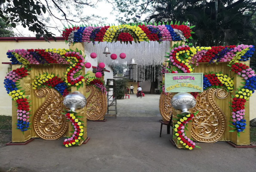
{"label": "gold pillar at the far right end of the gate", "polygon": [[[242,64],[246,64],[247,66],[250,66],[250,61],[242,61],[240,62]],[[239,86],[244,86],[244,84],[242,84],[241,82],[244,82],[244,80],[242,80],[243,77],[239,77],[237,74],[234,75],[234,91],[232,92],[232,95],[235,96],[235,92],[238,92],[237,88],[240,88]],[[232,102],[232,98],[230,100],[230,102]],[[244,132],[240,132],[240,137],[238,137],[237,132],[231,132],[231,141],[236,144],[236,145],[250,145],[250,99],[249,101],[247,100],[245,103],[245,115],[244,115],[244,119],[246,120],[246,129],[244,129]],[[231,112],[230,112],[231,113]],[[229,121],[232,121],[231,117],[229,119]],[[231,124],[229,124],[231,125]]]}

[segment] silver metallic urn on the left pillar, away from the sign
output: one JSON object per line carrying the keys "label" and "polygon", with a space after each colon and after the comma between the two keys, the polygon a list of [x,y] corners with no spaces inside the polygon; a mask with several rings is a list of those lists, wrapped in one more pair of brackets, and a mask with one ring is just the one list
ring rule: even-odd
{"label": "silver metallic urn on the left pillar, away from the sign", "polygon": [[64,97],[63,104],[74,112],[85,107],[86,98],[79,91],[71,92]]}

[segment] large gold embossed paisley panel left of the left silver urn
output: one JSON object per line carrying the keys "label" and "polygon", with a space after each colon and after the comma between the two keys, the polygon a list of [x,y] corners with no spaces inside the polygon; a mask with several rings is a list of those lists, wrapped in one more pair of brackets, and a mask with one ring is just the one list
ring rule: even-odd
{"label": "large gold embossed paisley panel left of the left silver urn", "polygon": [[34,90],[37,98],[46,97],[43,104],[34,114],[34,129],[40,138],[56,140],[61,138],[68,130],[65,115],[62,114],[63,97],[55,89],[41,88]]}

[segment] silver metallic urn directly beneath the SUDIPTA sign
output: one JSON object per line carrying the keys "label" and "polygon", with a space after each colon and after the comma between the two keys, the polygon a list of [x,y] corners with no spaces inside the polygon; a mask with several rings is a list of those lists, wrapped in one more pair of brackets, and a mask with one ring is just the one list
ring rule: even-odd
{"label": "silver metallic urn directly beneath the SUDIPTA sign", "polygon": [[185,114],[189,113],[188,110],[195,106],[196,99],[187,92],[179,92],[173,96],[171,103],[174,109],[182,111],[181,114]]}

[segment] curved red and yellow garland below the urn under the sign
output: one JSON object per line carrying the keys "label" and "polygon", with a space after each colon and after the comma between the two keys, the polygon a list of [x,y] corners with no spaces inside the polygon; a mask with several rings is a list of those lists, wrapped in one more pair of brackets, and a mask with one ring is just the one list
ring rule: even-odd
{"label": "curved red and yellow garland below the urn under the sign", "polygon": [[[185,130],[188,130],[186,128],[187,123],[191,122],[191,120],[194,118],[194,116],[197,114],[178,114],[178,119],[174,119],[177,121],[177,123],[173,126],[173,138],[177,137],[177,144],[181,143],[184,149],[192,150],[196,146],[196,144],[186,136]],[[198,147],[200,148],[200,147]]]}

